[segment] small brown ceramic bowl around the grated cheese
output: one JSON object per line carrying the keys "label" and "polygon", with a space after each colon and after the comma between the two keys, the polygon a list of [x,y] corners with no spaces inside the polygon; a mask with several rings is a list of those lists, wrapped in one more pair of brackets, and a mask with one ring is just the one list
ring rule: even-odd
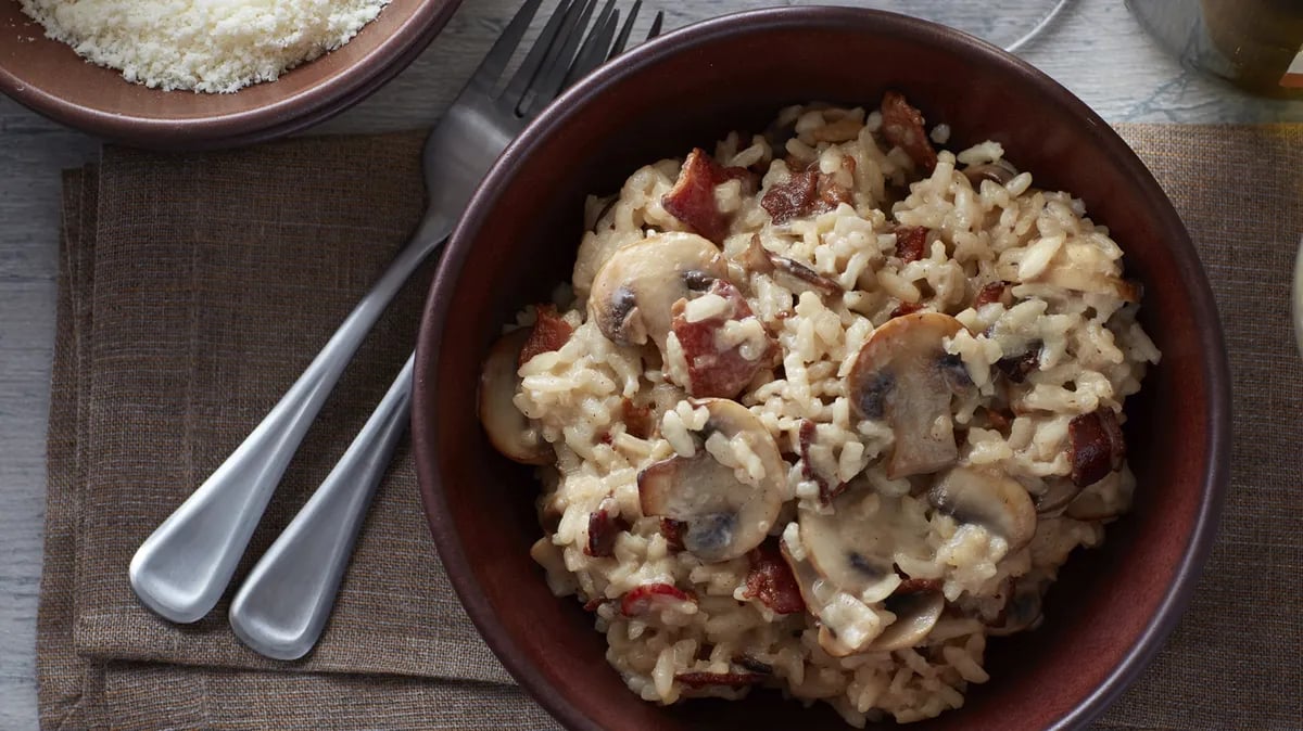
{"label": "small brown ceramic bowl around the grated cheese", "polygon": [[407,68],[460,0],[394,0],[336,51],[236,94],[159,91],[46,38],[18,0],[0,0],[0,91],[90,134],[159,150],[233,147],[311,126]]}

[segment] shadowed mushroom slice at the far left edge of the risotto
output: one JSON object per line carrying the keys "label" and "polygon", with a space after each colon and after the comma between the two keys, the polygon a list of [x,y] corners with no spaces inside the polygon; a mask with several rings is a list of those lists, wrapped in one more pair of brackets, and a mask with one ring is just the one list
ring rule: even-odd
{"label": "shadowed mushroom slice at the far left edge of the risotto", "polygon": [[516,363],[529,333],[529,328],[512,330],[489,350],[480,373],[480,423],[489,442],[507,458],[525,464],[547,464],[552,460],[551,446],[512,403],[520,390]]}

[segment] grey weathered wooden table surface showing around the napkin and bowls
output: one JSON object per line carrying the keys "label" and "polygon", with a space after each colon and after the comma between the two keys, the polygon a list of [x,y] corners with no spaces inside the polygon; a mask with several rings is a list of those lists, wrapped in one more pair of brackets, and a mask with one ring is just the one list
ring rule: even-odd
{"label": "grey weathered wooden table surface showing around the napkin and bowls", "polygon": [[[13,1],[13,0],[0,0]],[[1169,0],[1154,0],[1169,1]],[[421,59],[314,131],[423,126],[456,95],[517,0],[469,0]],[[650,3],[657,5],[655,0]],[[661,3],[667,27],[774,1]],[[864,3],[883,5],[882,0]],[[947,12],[1020,3],[954,0]],[[915,9],[937,3],[902,0]],[[1303,121],[1303,103],[1247,96],[1182,69],[1115,0],[1068,0],[1020,55],[1110,122]],[[36,728],[34,639],[55,334],[60,170],[99,143],[0,98],[0,728]]]}

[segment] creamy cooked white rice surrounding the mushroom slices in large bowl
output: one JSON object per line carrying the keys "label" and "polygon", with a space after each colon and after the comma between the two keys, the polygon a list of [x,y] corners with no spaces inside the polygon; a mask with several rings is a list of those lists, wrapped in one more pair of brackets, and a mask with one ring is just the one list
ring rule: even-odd
{"label": "creamy cooked white rice surrounding the mushroom slices in large bowl", "polygon": [[[616,196],[589,199],[573,280],[560,287],[552,316],[572,332],[520,366],[513,395],[532,433],[551,447],[538,501],[545,535],[533,555],[554,592],[594,611],[607,659],[648,701],[739,698],[760,685],[805,704],[826,701],[853,726],[929,718],[963,705],[969,683],[988,680],[988,636],[1035,627],[1038,597],[1072,549],[1098,545],[1104,524],[1130,506],[1134,477],[1121,446],[1102,477],[1075,485],[1074,464],[1088,455],[1078,454],[1070,432],[1074,419],[1102,410],[1123,419],[1123,399],[1160,354],[1136,323],[1138,290],[1121,280],[1122,250],[1081,200],[1036,189],[1028,172],[1006,168],[1002,178],[976,185],[966,176],[1003,160],[998,143],[942,150],[926,173],[885,139],[877,111],[794,107],[780,112],[784,125],[791,133],[782,148],[734,134],[713,152],[719,166],[756,173],[756,190],[745,176],[713,187],[727,221],[715,242],[726,278],[754,316],[732,310],[727,287],[693,290],[681,306],[685,323],[726,319],[714,330],[718,351],[736,349],[736,363],[758,364],[731,395],[760,427],[721,428],[723,407],[689,398],[684,386],[696,376],[688,362],[698,354],[684,352],[676,334],[620,345],[590,316],[594,280],[612,256],[692,230],[665,206],[684,161],[648,165]],[[949,134],[934,129],[932,139]],[[800,172],[817,172],[835,204],[775,222],[765,196]],[[899,248],[906,226],[928,230],[916,259]],[[762,265],[765,252],[770,264]],[[975,306],[984,290],[989,302]],[[956,379],[954,394],[942,397],[949,407],[928,427],[941,442],[952,434],[956,454],[936,470],[893,477],[902,414],[913,408],[899,401],[909,376],[874,382],[874,398],[898,394],[885,412],[852,381],[866,343],[889,321],[917,320],[906,315],[912,310],[958,323],[936,351],[937,367]],[[517,324],[529,326],[536,316],[530,308]],[[629,421],[631,406],[650,414],[650,433]],[[777,475],[773,454],[782,459]],[[770,557],[782,545],[779,571],[797,568],[803,611],[780,614],[771,597],[748,589],[764,563],[756,550],[706,561],[679,548],[672,522],[644,514],[640,473],[650,480],[654,464],[702,460],[731,470],[744,485],[737,489],[777,496],[777,516],[757,535],[767,533]],[[990,485],[1012,480],[1002,484],[1016,488],[1009,499],[1020,507],[982,519],[968,509],[985,503],[949,493],[959,496],[956,507],[938,486],[956,472]],[[1035,528],[1024,525],[1019,538],[1007,520],[1025,523],[1024,503],[1035,509]],[[739,510],[726,518],[745,515]],[[599,528],[610,535],[594,555],[603,537],[590,529]],[[734,528],[709,540],[737,540],[757,525]],[[835,541],[870,536],[870,558],[890,571],[864,574],[873,576],[864,585],[826,576],[827,563],[812,563],[818,557],[808,550],[821,540],[809,533],[816,529]],[[847,555],[852,567],[864,558]],[[814,571],[810,581],[803,567]],[[907,611],[899,601],[911,597],[943,601],[943,610],[924,613],[924,630],[906,646],[877,649],[891,636],[883,632],[906,622],[891,609]]]}

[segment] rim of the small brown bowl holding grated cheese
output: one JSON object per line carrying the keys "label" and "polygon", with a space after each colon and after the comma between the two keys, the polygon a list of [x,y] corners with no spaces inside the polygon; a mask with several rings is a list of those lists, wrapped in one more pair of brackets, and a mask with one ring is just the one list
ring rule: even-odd
{"label": "rim of the small brown bowl holding grated cheese", "polygon": [[[115,113],[33,86],[4,66],[0,66],[0,92],[43,117],[113,142],[154,150],[210,150],[251,144],[301,131],[366,99],[425,51],[460,4],[461,0],[421,0],[412,14],[360,62],[340,69],[298,94],[240,112],[172,120]],[[367,30],[374,22],[358,33]],[[38,23],[38,27],[42,26]],[[263,83],[276,82],[257,86]],[[152,91],[195,94],[186,90]]]}

